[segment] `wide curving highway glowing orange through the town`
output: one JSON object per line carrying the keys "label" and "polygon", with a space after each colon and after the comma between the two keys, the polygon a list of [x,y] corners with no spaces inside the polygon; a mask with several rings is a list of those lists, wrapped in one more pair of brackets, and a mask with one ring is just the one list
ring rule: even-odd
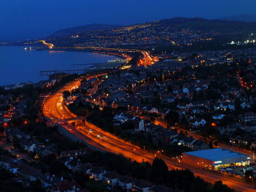
{"label": "wide curving highway glowing orange through the town", "polygon": [[[152,163],[154,158],[158,156],[157,154],[149,153],[146,150],[140,149],[140,147],[132,145],[129,142],[125,142],[113,134],[103,131],[101,128],[89,123],[86,123],[86,126],[72,126],[67,122],[67,119],[77,118],[77,116],[72,114],[72,112],[69,112],[67,107],[65,107],[62,93],[63,91],[72,91],[72,89],[78,88],[79,86],[80,79],[67,84],[52,96],[45,98],[42,105],[43,114],[50,119],[56,120],[56,122],[67,129],[67,131],[91,146],[110,153],[121,153],[133,161],[148,161],[149,163]],[[161,155],[160,157],[165,161],[169,169],[189,169],[195,174],[195,176],[202,177],[203,180],[206,180],[207,182],[214,183],[215,181],[222,180],[222,183],[230,186],[231,188],[235,188],[236,191],[255,191],[253,185],[244,183],[241,180],[236,180],[235,178],[227,177],[217,172],[211,172],[189,166],[187,164],[181,164],[177,161],[170,160],[170,158],[167,158],[166,156]]]}

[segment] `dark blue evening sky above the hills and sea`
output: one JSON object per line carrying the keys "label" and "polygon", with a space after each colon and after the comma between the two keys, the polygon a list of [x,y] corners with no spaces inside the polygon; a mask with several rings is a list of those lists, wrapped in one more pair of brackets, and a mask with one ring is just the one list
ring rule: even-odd
{"label": "dark blue evening sky above the hills and sea", "polygon": [[173,17],[254,14],[256,0],[1,0],[0,41],[45,37],[90,23],[132,24]]}

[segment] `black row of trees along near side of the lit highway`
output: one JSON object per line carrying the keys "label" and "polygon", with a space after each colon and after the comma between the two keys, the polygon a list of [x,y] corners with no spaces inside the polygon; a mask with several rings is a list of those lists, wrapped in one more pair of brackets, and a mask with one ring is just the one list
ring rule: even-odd
{"label": "black row of trees along near side of the lit highway", "polygon": [[130,161],[122,155],[112,153],[102,153],[99,151],[89,151],[82,156],[83,163],[94,162],[97,166],[103,166],[107,170],[115,171],[118,174],[130,175],[140,180],[148,180],[151,183],[166,185],[169,188],[182,190],[185,192],[231,192],[233,189],[227,185],[222,185],[221,181],[206,183],[200,177],[189,170],[168,170],[167,165],[160,158],[155,158],[153,164],[144,162],[139,164],[136,161]]}

